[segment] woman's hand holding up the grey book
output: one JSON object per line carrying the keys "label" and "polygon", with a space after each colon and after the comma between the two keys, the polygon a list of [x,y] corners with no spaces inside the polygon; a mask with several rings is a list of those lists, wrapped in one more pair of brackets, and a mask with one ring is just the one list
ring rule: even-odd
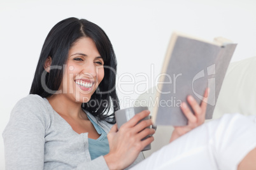
{"label": "woman's hand holding up the grey book", "polygon": [[192,96],[187,97],[187,101],[192,107],[195,114],[192,113],[192,111],[190,110],[190,108],[188,108],[188,105],[185,102],[181,103],[181,110],[183,114],[185,114],[185,116],[187,117],[188,124],[187,126],[175,126],[173,134],[171,135],[170,142],[176,140],[176,138],[182,136],[185,133],[188,133],[192,129],[204,123],[208,94],[209,88],[207,88],[204,92],[204,99],[202,100],[201,105],[199,105]]}

